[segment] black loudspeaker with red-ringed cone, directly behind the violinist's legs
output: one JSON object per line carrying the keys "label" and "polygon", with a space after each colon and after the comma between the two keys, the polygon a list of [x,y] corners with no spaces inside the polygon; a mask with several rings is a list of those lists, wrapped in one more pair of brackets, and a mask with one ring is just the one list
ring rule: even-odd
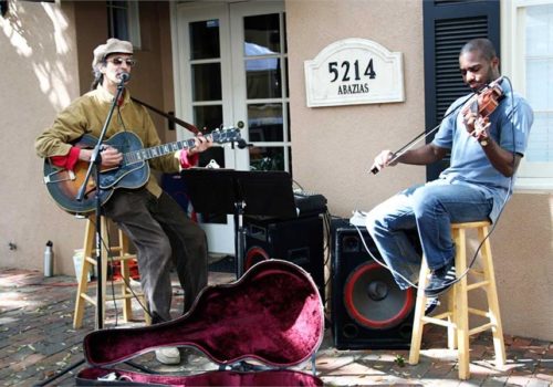
{"label": "black loudspeaker with red-ringed cone, directly behind the violinist's legs", "polygon": [[331,230],[334,345],[338,349],[408,348],[416,292],[400,290],[390,272],[368,254],[366,248],[382,262],[364,227],[338,219]]}

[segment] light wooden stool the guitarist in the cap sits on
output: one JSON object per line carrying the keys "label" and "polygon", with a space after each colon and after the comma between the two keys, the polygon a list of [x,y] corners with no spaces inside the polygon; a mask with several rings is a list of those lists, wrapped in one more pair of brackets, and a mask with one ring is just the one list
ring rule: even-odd
{"label": "light wooden stool the guitarist in the cap sits on", "polygon": [[[75,312],[73,316],[73,327],[80,328],[83,325],[83,314],[85,302],[90,302],[96,305],[96,296],[90,296],[86,292],[88,290],[88,273],[93,266],[96,266],[96,232],[94,227],[95,217],[90,217],[86,221],[86,230],[84,231],[84,249],[83,249],[83,264],[81,269],[81,279],[79,281],[79,289],[76,292]],[[109,297],[111,300],[123,300],[123,320],[128,322],[133,318],[132,299],[137,296],[138,301],[143,307],[147,307],[144,294],[142,291],[136,292],[131,291],[131,274],[129,274],[129,261],[136,261],[136,255],[128,253],[128,240],[125,233],[119,229],[117,232],[117,243],[113,244],[113,240],[108,237],[107,219],[101,217],[101,228],[102,228],[102,302],[103,305],[106,304],[106,283],[107,283],[107,262],[119,262],[121,264],[121,276],[122,279],[113,281],[114,286],[121,286],[121,293],[114,294]],[[112,242],[108,247],[107,243]],[[96,270],[96,273],[98,271]],[[112,282],[109,283],[112,286]],[[105,307],[102,308],[104,312],[102,321],[105,321]],[[97,311],[96,311],[97,313]],[[150,316],[148,312],[144,312],[144,317],[146,324],[150,324]],[[97,320],[96,320],[97,324]],[[96,327],[97,328],[97,327]]]}

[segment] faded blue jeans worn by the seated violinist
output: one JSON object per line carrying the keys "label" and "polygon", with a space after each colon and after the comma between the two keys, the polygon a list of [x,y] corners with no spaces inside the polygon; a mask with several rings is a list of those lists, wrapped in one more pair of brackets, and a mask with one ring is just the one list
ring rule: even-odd
{"label": "faded blue jeans worn by the seated violinist", "polygon": [[440,269],[455,258],[451,223],[488,219],[492,205],[491,198],[470,185],[435,180],[407,188],[375,207],[366,217],[366,227],[395,271],[397,284],[407,289],[409,282],[418,281],[421,260],[407,236],[409,230],[418,231],[428,268]]}

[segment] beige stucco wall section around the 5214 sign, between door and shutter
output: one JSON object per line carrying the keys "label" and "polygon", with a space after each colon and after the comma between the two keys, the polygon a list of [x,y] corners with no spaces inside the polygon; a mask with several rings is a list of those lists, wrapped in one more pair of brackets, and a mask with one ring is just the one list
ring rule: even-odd
{"label": "beige stucco wall section around the 5214 sign, between door and shutter", "polygon": [[[415,167],[368,174],[377,151],[397,149],[424,128],[421,22],[418,1],[286,2],[294,179],[324,194],[334,215],[371,208],[424,179]],[[346,38],[403,53],[404,103],[306,107],[303,62]]]}

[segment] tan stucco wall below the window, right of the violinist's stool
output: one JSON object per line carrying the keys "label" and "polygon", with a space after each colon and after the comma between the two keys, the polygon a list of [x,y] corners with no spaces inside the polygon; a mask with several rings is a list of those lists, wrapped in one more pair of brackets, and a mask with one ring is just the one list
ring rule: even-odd
{"label": "tan stucco wall below the window, right of the violinist's stool", "polygon": [[491,237],[507,333],[553,339],[553,196],[514,194]]}

